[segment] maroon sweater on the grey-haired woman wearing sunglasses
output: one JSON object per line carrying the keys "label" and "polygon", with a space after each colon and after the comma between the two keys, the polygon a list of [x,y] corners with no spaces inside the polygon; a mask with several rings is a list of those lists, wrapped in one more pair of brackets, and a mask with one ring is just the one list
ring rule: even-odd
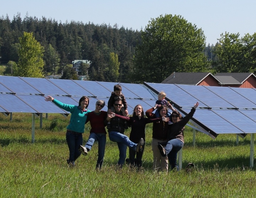
{"label": "maroon sweater on the grey-haired woman wearing sunglasses", "polygon": [[107,118],[107,112],[106,111],[100,111],[100,114],[97,115],[94,111],[89,112],[87,114],[87,120],[85,123],[90,121],[91,130],[90,133],[102,133],[107,134],[105,129],[105,123],[104,120]]}

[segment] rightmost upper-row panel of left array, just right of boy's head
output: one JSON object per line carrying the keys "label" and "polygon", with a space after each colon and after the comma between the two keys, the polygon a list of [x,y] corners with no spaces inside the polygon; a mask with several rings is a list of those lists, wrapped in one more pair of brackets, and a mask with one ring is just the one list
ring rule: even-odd
{"label": "rightmost upper-row panel of left array, just right of boy's head", "polygon": [[148,88],[143,87],[141,84],[129,84],[129,83],[119,83],[122,87],[129,89],[130,92],[136,94],[139,98],[143,99],[157,99],[149,91]]}

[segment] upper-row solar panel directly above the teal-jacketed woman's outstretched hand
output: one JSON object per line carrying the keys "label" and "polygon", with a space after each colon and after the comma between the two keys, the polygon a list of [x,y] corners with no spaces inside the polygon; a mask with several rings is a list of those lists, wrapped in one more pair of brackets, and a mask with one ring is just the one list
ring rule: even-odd
{"label": "upper-row solar panel directly above the teal-jacketed woman's outstretched hand", "polygon": [[53,83],[48,81],[46,78],[27,78],[27,77],[20,77],[20,78],[44,95],[68,95],[63,90],[61,90],[60,88],[55,86]]}

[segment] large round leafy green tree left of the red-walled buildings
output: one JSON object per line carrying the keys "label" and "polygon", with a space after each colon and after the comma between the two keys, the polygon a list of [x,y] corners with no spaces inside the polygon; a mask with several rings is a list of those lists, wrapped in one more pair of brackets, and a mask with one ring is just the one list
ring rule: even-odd
{"label": "large round leafy green tree left of the red-walled buildings", "polygon": [[202,29],[180,15],[151,19],[134,55],[137,82],[161,82],[172,72],[206,71],[204,48]]}

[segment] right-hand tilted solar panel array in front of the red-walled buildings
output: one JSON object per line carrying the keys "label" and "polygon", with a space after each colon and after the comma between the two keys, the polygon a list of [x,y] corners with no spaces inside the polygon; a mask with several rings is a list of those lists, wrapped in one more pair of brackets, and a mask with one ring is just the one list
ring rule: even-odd
{"label": "right-hand tilted solar panel array in front of the red-walled buildings", "polygon": [[166,98],[183,115],[188,114],[198,101],[200,104],[192,122],[213,137],[221,133],[240,136],[256,133],[256,89],[144,84],[156,94],[164,91]]}

